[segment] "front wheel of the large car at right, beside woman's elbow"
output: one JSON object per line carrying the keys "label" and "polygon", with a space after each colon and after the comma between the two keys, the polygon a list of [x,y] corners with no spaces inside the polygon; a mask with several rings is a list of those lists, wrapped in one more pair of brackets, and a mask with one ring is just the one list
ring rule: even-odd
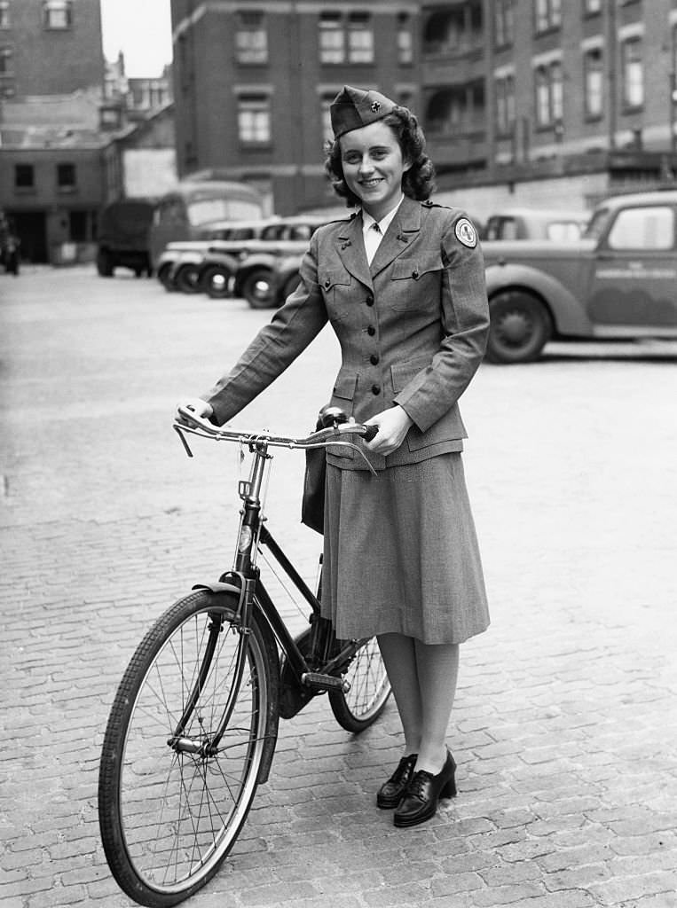
{"label": "front wheel of the large car at right, beside woman's elbow", "polygon": [[553,330],[543,303],[524,291],[503,291],[493,297],[486,358],[510,363],[535,360]]}

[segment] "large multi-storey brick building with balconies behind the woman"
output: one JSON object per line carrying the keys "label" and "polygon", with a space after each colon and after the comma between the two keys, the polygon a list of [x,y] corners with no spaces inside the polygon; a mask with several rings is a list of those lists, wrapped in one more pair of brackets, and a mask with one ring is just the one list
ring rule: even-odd
{"label": "large multi-storey brick building with balconies behind the woman", "polygon": [[227,168],[278,212],[333,201],[344,83],[420,115],[441,191],[473,210],[572,205],[675,167],[677,0],[172,0],[180,173]]}

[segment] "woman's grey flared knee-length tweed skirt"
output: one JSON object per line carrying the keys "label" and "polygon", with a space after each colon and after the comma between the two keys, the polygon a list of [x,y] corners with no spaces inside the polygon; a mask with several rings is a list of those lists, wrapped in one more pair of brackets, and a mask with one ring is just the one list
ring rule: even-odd
{"label": "woman's grey flared knee-length tweed skirt", "polygon": [[368,470],[327,464],[322,610],[339,639],[462,643],[489,626],[460,453]]}

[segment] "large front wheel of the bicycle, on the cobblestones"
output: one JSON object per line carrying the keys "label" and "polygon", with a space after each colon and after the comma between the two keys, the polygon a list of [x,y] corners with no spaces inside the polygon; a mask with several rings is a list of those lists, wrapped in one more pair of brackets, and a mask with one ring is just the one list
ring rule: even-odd
{"label": "large front wheel of the bicycle, on the cobblestones", "polygon": [[137,647],[114,697],[99,771],[101,836],[115,881],[152,908],[182,902],[214,876],[270,765],[279,658],[255,609],[218,753],[170,745],[177,723],[184,723],[181,740],[197,746],[224,714],[241,638],[232,623],[237,601],[200,590],[174,603]]}

